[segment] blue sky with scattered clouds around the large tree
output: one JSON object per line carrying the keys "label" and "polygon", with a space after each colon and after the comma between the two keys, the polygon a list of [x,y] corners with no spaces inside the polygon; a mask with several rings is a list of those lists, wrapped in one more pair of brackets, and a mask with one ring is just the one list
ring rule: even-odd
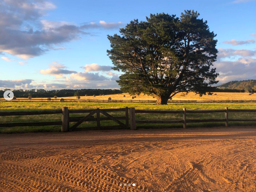
{"label": "blue sky with scattered clouds around the large tree", "polygon": [[256,79],[255,8],[256,0],[3,0],[0,89],[119,88],[107,35],[134,18],[185,9],[217,34],[218,84]]}

